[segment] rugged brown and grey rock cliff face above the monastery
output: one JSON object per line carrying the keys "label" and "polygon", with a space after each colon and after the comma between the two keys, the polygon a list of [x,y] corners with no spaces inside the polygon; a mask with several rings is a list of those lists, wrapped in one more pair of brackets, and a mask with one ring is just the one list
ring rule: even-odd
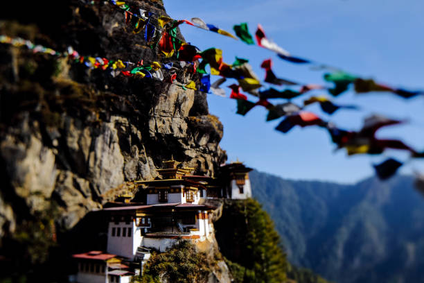
{"label": "rugged brown and grey rock cliff face above the monastery", "polygon": [[[166,15],[159,1],[127,1]],[[130,62],[173,62],[132,33],[124,14],[96,1],[15,3],[0,12],[0,34],[57,51]],[[19,11],[19,12],[10,12]],[[182,35],[178,34],[180,38]],[[114,78],[66,58],[0,44],[0,237],[26,233],[41,221],[54,238],[131,181],[148,180],[175,157],[212,174],[226,159],[222,124],[206,94],[151,79]],[[177,69],[177,82],[199,80]],[[55,225],[51,221],[55,221]],[[48,227],[47,227],[48,226]]]}

